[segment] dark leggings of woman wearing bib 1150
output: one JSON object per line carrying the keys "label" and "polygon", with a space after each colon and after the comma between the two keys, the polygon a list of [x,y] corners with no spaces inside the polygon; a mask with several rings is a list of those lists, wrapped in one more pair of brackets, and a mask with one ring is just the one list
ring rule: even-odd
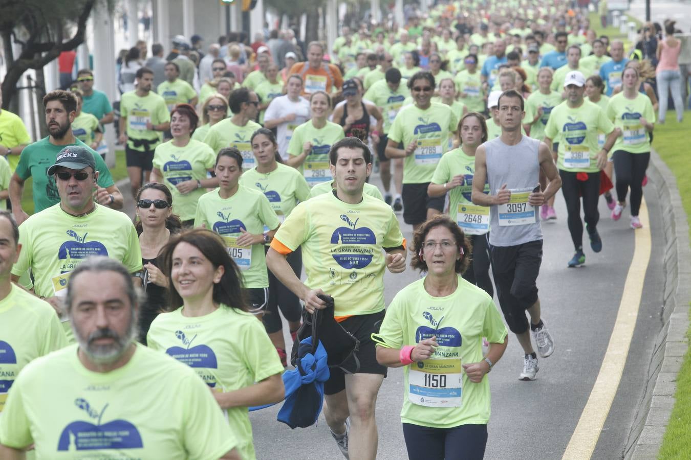
{"label": "dark leggings of woman wearing bib 1150", "polygon": [[487,426],[430,428],[404,423],[403,437],[409,460],[482,460]]}

